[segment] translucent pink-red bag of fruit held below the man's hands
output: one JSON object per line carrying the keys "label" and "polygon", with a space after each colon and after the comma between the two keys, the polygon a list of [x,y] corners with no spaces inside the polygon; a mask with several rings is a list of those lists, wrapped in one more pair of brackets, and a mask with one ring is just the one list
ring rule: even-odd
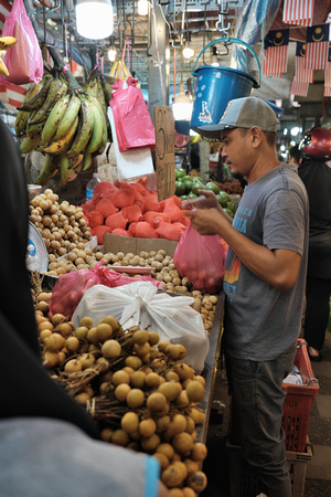
{"label": "translucent pink-red bag of fruit held below the man's hands", "polygon": [[173,263],[196,289],[214,294],[222,288],[225,254],[218,235],[201,235],[190,222],[181,234]]}

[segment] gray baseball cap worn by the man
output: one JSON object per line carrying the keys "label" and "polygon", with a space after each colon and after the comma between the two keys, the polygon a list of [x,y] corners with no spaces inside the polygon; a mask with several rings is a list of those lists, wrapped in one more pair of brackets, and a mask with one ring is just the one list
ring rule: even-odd
{"label": "gray baseball cap worn by the man", "polygon": [[271,107],[260,98],[244,97],[229,101],[217,125],[197,127],[206,138],[220,138],[223,129],[252,128],[258,126],[263,131],[277,131],[279,120]]}

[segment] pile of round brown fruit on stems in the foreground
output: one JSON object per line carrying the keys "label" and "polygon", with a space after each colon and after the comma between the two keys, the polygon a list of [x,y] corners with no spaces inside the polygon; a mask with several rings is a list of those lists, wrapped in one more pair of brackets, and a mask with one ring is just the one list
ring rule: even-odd
{"label": "pile of round brown fruit on stems in the foreground", "polygon": [[50,317],[50,297],[36,296],[35,316],[54,381],[99,423],[106,442],[157,457],[172,496],[196,496],[206,486],[206,446],[196,441],[205,381],[182,362],[185,348],[138,326],[124,330],[113,316],[86,316],[75,328],[62,315]]}

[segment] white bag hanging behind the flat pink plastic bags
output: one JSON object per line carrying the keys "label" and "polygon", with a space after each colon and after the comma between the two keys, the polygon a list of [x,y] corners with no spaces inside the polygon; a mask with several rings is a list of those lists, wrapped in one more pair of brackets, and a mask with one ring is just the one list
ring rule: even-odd
{"label": "white bag hanging behind the flat pink plastic bags", "polygon": [[149,147],[136,150],[119,151],[116,127],[111,107],[108,107],[108,117],[111,127],[113,145],[116,157],[119,181],[142,178],[154,172],[151,151]]}

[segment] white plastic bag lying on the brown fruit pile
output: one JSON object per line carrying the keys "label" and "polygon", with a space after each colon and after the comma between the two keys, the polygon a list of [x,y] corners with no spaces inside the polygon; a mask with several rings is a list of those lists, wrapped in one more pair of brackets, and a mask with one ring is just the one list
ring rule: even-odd
{"label": "white plastic bag lying on the brown fruit pile", "polygon": [[182,343],[186,349],[184,362],[201,373],[210,339],[200,313],[190,307],[193,302],[192,297],[158,293],[150,282],[135,282],[116,288],[95,285],[84,293],[72,320],[77,327],[85,316],[96,324],[110,315],[124,329],[139,326],[157,331],[160,340]]}

